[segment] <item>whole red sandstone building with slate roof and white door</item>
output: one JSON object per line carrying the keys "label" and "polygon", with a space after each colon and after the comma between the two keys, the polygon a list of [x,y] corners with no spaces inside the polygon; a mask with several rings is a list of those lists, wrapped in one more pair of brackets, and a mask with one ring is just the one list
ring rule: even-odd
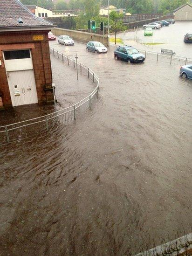
{"label": "whole red sandstone building with slate roof and white door", "polygon": [[18,0],[0,0],[0,109],[53,102],[48,46],[53,26]]}

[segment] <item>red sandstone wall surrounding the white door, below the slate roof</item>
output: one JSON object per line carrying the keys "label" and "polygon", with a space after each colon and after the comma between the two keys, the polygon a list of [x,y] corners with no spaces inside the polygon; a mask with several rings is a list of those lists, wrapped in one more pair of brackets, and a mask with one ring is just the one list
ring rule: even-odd
{"label": "red sandstone wall surrounding the white door, below the slate roof", "polygon": [[[43,41],[34,41],[33,35],[43,35]],[[52,71],[48,47],[48,31],[27,31],[27,32],[0,32],[0,94],[2,95],[3,105],[8,107],[12,105],[7,82],[6,70],[3,61],[1,48],[8,47],[22,48],[22,44],[30,43],[34,77],[37,88],[39,104],[53,102],[52,89]],[[30,47],[33,45],[34,47]],[[50,90],[49,90],[50,89]]]}

